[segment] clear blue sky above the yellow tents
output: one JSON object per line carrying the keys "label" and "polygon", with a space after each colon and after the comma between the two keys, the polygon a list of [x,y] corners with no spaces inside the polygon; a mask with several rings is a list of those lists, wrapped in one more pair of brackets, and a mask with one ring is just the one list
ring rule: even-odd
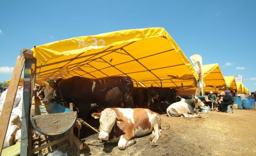
{"label": "clear blue sky above the yellow tents", "polygon": [[0,82],[23,48],[148,27],[165,28],[187,58],[199,54],[256,90],[256,0],[0,0]]}

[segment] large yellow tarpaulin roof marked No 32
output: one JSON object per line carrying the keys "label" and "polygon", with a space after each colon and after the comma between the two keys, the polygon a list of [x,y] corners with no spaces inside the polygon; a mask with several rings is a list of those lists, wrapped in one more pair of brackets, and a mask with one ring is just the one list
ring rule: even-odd
{"label": "large yellow tarpaulin roof marked No 32", "polygon": [[[146,87],[191,86],[198,74],[164,28],[121,30],[51,42],[32,49],[37,80],[63,76],[129,76]],[[69,75],[59,72],[68,66]]]}

